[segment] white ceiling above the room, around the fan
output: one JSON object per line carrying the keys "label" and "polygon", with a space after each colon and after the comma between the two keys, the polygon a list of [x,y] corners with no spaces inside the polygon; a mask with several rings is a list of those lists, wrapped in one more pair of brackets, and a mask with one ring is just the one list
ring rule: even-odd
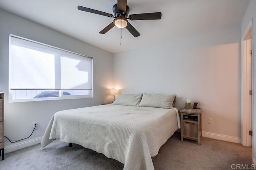
{"label": "white ceiling above the room, around the fan", "polygon": [[0,0],[0,8],[112,53],[168,41],[174,37],[240,24],[250,0],[128,0],[129,14],[162,12],[161,20],[128,20],[139,37],[113,27],[113,18],[77,9],[84,6],[113,14],[117,0]]}

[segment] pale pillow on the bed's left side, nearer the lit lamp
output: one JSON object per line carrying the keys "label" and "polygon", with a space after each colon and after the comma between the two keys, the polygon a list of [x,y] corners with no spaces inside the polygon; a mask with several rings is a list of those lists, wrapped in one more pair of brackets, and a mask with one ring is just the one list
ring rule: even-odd
{"label": "pale pillow on the bed's left side, nearer the lit lamp", "polygon": [[112,103],[115,105],[138,106],[142,98],[140,94],[118,94],[116,100]]}

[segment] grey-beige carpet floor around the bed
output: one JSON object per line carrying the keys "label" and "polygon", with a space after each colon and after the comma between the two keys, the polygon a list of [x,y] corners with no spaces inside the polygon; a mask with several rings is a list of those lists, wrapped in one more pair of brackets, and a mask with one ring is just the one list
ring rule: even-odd
{"label": "grey-beige carpet floor around the bed", "polygon": [[[155,170],[229,170],[236,165],[252,165],[252,148],[202,137],[180,141],[176,132],[152,157]],[[0,170],[122,170],[124,165],[104,154],[56,140],[41,148],[40,144],[4,155]],[[233,165],[232,165],[233,164]],[[242,166],[240,166],[242,167]],[[247,169],[248,169],[247,168]]]}

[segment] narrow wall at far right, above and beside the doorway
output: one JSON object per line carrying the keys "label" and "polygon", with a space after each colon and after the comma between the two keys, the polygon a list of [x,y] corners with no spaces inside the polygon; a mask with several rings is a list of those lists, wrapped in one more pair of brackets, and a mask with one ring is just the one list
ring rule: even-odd
{"label": "narrow wall at far right, above and beside the doorway", "polygon": [[[252,54],[253,54],[253,65],[254,65],[254,70],[256,66],[256,59],[255,59],[255,54],[256,54],[256,0],[250,0],[250,3],[248,5],[248,8],[246,10],[246,13],[244,14],[243,21],[241,23],[241,34],[244,35],[246,33],[246,30],[248,28],[248,25],[250,21],[252,20]],[[254,77],[253,77],[253,91],[256,89],[256,73],[254,72]],[[252,113],[252,158],[253,158],[253,163],[256,164],[256,100],[255,100],[256,94],[255,92],[253,93],[253,113]]]}

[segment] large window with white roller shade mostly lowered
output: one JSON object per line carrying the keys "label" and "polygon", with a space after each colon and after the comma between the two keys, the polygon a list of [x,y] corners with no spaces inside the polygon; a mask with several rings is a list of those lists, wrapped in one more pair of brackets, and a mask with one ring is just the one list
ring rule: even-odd
{"label": "large window with white roller shade mostly lowered", "polygon": [[9,101],[92,97],[93,59],[9,36]]}

